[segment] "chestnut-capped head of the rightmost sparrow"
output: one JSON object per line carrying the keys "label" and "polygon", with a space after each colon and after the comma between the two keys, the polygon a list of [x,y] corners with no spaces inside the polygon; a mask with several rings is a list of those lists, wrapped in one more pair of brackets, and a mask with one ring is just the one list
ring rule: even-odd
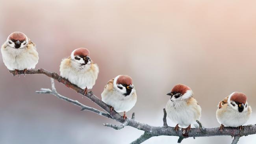
{"label": "chestnut-capped head of the rightmost sparrow", "polygon": [[239,111],[240,113],[243,111],[247,111],[247,97],[242,92],[233,92],[228,97],[228,105],[230,105],[230,107]]}

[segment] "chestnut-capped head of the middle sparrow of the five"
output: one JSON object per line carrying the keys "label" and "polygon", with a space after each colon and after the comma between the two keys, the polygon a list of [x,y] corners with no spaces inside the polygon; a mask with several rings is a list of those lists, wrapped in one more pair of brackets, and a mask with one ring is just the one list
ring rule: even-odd
{"label": "chestnut-capped head of the middle sparrow of the five", "polygon": [[134,93],[132,78],[127,75],[119,75],[115,77],[113,87],[115,90],[121,92],[124,96],[130,96]]}

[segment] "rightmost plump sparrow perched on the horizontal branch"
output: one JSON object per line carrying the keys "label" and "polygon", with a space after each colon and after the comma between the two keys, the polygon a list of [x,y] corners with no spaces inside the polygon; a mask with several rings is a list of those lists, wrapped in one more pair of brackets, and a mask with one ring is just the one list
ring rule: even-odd
{"label": "rightmost plump sparrow perched on the horizontal branch", "polygon": [[219,124],[221,124],[221,131],[224,126],[239,127],[241,130],[242,125],[249,120],[251,113],[252,109],[247,104],[245,94],[233,92],[228,97],[224,98],[223,101],[219,102],[216,118]]}

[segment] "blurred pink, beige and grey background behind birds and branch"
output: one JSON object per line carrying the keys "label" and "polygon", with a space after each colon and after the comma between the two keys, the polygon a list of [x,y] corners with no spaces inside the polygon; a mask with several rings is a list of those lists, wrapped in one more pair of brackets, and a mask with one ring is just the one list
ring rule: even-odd
{"label": "blurred pink, beige and grey background behind birds and branch", "polygon": [[[191,87],[202,107],[205,127],[219,127],[217,104],[244,92],[256,109],[256,1],[204,0],[0,0],[0,43],[13,31],[24,32],[39,52],[36,68],[59,73],[61,59],[85,47],[100,67],[93,87],[98,98],[119,74],[133,78],[137,103],[127,113],[140,122],[162,126],[166,93],[176,83]],[[13,77],[0,61],[1,144],[127,144],[143,131],[118,124],[53,95],[44,75]],[[56,83],[60,94],[96,107]],[[122,113],[121,113],[122,114]],[[256,113],[247,124],[255,124]],[[167,119],[169,126],[175,126]],[[177,137],[152,137],[145,144],[176,143]],[[241,137],[254,144],[256,135]],[[231,143],[230,136],[187,138],[183,144]]]}

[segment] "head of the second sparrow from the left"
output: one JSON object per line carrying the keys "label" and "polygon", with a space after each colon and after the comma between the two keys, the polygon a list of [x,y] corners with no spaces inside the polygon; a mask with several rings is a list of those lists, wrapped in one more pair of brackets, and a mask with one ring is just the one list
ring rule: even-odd
{"label": "head of the second sparrow from the left", "polygon": [[73,50],[70,57],[73,61],[80,66],[91,64],[91,58],[89,57],[89,50],[87,48],[77,48]]}

